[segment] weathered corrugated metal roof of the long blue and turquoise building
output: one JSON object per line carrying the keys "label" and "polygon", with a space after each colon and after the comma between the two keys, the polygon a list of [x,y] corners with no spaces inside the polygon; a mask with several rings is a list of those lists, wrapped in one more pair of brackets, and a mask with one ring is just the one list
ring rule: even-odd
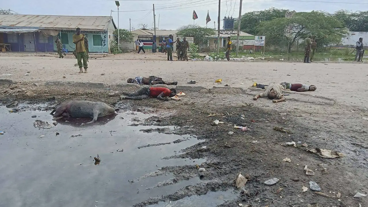
{"label": "weathered corrugated metal roof of the long blue and turquoise building", "polygon": [[3,28],[74,30],[79,27],[82,30],[104,31],[107,29],[111,21],[114,24],[112,17],[19,14],[0,15],[0,27]]}

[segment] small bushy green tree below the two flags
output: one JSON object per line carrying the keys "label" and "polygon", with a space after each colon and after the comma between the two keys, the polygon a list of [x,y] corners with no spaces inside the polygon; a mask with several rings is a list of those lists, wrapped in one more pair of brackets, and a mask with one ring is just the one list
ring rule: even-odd
{"label": "small bushy green tree below the two flags", "polygon": [[197,45],[207,45],[208,43],[208,36],[215,35],[215,30],[211,28],[205,28],[202,26],[195,26],[195,25],[188,25],[182,26],[178,29],[176,33],[177,36],[182,37],[193,37],[194,44]]}

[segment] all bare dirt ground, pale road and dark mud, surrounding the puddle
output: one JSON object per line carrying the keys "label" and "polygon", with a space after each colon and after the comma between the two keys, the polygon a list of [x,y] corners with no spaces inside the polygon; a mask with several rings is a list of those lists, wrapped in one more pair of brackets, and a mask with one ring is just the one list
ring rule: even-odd
{"label": "all bare dirt ground, pale road and dark mud, surrounding the puddle", "polygon": [[[132,55],[136,56],[129,54]],[[364,88],[368,74],[364,69],[366,64],[167,62],[146,61],[145,55],[150,57],[153,54],[139,55],[143,57],[142,60],[110,60],[112,57],[110,55],[91,59],[88,74],[75,74],[78,68],[73,66],[75,60],[70,58],[1,56],[0,74],[12,74],[6,78],[28,82],[27,85],[18,84],[16,87],[1,86],[3,92],[1,96],[3,100],[6,100],[4,96],[10,99],[14,97],[28,99],[27,91],[37,91],[39,99],[28,100],[28,104],[45,103],[44,101],[48,100],[46,108],[50,108],[50,100],[54,103],[68,99],[83,99],[115,103],[117,107],[128,106],[133,111],[149,110],[150,113],[154,112],[149,118],[138,121],[134,119],[136,125],[147,125],[151,128],[145,129],[144,132],[154,133],[154,137],[159,137],[158,133],[191,134],[204,140],[185,148],[180,153],[162,157],[171,161],[205,159],[198,165],[206,169],[201,177],[198,167],[194,164],[172,164],[158,167],[156,171],[150,169],[147,174],[137,174],[137,178],[133,181],[126,181],[136,186],[135,182],[138,181],[143,182],[141,185],[146,185],[144,180],[147,177],[161,178],[162,175],[173,177],[163,178],[162,182],[155,185],[157,188],[171,186],[170,191],[156,197],[146,197],[143,194],[138,198],[139,201],[134,202],[135,207],[156,203],[157,206],[171,206],[168,201],[183,201],[187,196],[191,196],[190,198],[200,196],[201,200],[211,201],[213,197],[210,196],[210,192],[220,190],[226,192],[230,190],[235,197],[230,196],[231,199],[221,199],[220,203],[213,201],[203,206],[233,207],[239,206],[239,203],[244,206],[251,204],[253,207],[305,207],[307,204],[312,204],[313,207],[316,207],[316,204],[319,207],[358,207],[359,204],[368,206],[367,197],[353,197],[356,192],[367,194],[368,191],[366,131],[368,121],[362,119],[368,117],[368,93]],[[121,58],[123,57],[122,55]],[[25,76],[27,71],[30,73]],[[105,75],[101,76],[101,73]],[[66,79],[61,78],[63,75]],[[288,101],[276,104],[266,98],[253,101],[252,97],[256,91],[242,92],[238,89],[186,91],[187,95],[181,101],[161,102],[155,99],[118,101],[117,97],[107,96],[106,89],[65,89],[30,84],[48,80],[91,81],[111,84],[109,87],[114,90],[114,83],[122,83],[128,77],[140,75],[156,75],[179,83],[195,80],[196,85],[208,88],[221,86],[214,83],[214,80],[222,78],[222,85],[237,87],[251,85],[253,81],[259,83],[290,81],[313,84],[317,86],[317,90],[290,94],[286,96]],[[26,90],[11,93],[20,88]],[[321,105],[317,99],[323,97],[327,97],[326,100],[336,101],[327,101]],[[6,115],[1,117],[3,118],[6,118]],[[213,124],[216,119],[224,123]],[[234,128],[234,125],[249,129],[243,132]],[[158,129],[158,126],[177,127]],[[275,130],[278,128],[285,131]],[[159,147],[161,145],[158,144],[161,142],[166,144],[159,138],[152,139],[155,145],[150,147]],[[296,142],[296,147],[284,146],[285,142],[291,141]],[[6,142],[6,139],[1,142]],[[93,143],[96,143],[96,140],[93,140]],[[88,148],[88,144],[85,145]],[[140,145],[147,146],[143,142]],[[75,146],[77,148],[77,145]],[[323,158],[310,151],[315,148],[336,150],[343,153],[343,157]],[[105,153],[108,154],[110,151]],[[291,162],[283,161],[285,158],[290,158]],[[305,165],[314,171],[314,176],[305,174]],[[239,172],[249,178],[249,181],[240,190],[235,190],[234,178]],[[264,182],[271,178],[279,178],[280,181],[272,186],[265,185]],[[186,182],[193,180],[194,183]],[[314,193],[309,188],[309,181],[317,182],[322,189],[321,192],[328,197]],[[303,186],[308,188],[306,192],[302,192]],[[109,190],[112,189],[107,186],[106,190],[100,193],[107,193]],[[113,190],[117,194],[123,193],[119,188]],[[338,197],[338,193],[341,193],[341,196]],[[24,195],[26,192],[21,194]],[[82,197],[86,199],[85,196]],[[220,198],[218,195],[216,197]],[[113,202],[118,203],[124,199],[127,197],[117,196]],[[112,201],[106,202],[110,206],[115,204]],[[198,206],[198,203],[187,203],[186,206]]]}

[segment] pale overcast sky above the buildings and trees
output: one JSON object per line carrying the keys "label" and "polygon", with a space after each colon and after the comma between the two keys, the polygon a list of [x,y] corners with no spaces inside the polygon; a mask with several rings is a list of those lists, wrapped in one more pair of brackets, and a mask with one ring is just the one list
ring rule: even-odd
{"label": "pale overcast sky above the buildings and trees", "polygon": [[[364,0],[308,0],[308,1],[333,1],[349,3],[366,3]],[[240,0],[221,0],[221,19],[226,15],[239,15]],[[180,26],[193,24],[192,13],[196,11],[198,19],[196,25],[206,26],[207,10],[209,10],[211,22],[208,27],[214,28],[218,14],[218,0],[121,0],[120,1],[120,28],[129,29],[129,18],[131,27],[138,29],[139,24],[147,24],[153,27],[152,4],[155,4],[156,27],[159,29],[177,29]],[[113,0],[0,0],[0,7],[16,11],[19,14],[38,15],[83,15],[83,16],[110,16],[110,11],[117,11]],[[170,7],[170,8],[167,8]],[[339,4],[339,3],[316,3],[279,0],[244,0],[242,13],[247,11],[264,10],[270,7],[284,8],[289,10],[311,11],[323,10],[333,13],[337,10],[367,11],[368,4]],[[146,10],[146,11],[137,11]],[[130,12],[125,12],[130,11]],[[116,25],[117,12],[112,13]],[[160,19],[159,19],[160,17]]]}

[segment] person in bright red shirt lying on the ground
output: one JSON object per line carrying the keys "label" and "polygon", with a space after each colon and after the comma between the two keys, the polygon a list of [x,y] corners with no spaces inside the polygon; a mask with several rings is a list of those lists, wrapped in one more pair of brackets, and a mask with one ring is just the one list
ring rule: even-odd
{"label": "person in bright red shirt lying on the ground", "polygon": [[135,92],[123,92],[124,96],[120,96],[120,100],[143,100],[150,97],[158,100],[168,101],[167,97],[174,97],[176,95],[175,89],[161,88],[161,87],[143,87]]}

